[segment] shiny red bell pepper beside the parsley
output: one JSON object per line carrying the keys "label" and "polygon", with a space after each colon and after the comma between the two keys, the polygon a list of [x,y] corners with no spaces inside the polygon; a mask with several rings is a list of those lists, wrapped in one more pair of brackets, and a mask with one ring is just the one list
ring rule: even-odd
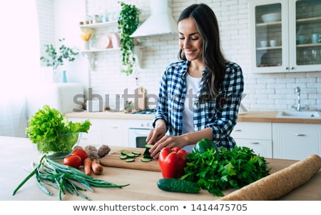
{"label": "shiny red bell pepper beside the parsley", "polygon": [[175,147],[170,149],[165,147],[161,150],[158,156],[158,163],[161,166],[163,178],[178,179],[184,174],[184,167],[186,166],[186,154],[183,149]]}

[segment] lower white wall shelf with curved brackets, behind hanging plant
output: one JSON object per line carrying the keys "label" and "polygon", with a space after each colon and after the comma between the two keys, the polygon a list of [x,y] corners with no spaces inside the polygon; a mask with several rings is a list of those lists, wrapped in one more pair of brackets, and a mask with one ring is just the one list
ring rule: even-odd
{"label": "lower white wall shelf with curved brackets, behind hanging plant", "polygon": [[[143,46],[135,46],[134,54],[136,55],[136,62],[138,68],[141,68],[141,58],[143,56],[141,49]],[[121,51],[121,48],[111,48],[111,49],[90,49],[90,50],[83,50],[81,54],[86,57],[88,60],[88,64],[91,70],[95,69],[95,61],[96,61],[96,53],[98,52],[109,52],[109,51]]]}

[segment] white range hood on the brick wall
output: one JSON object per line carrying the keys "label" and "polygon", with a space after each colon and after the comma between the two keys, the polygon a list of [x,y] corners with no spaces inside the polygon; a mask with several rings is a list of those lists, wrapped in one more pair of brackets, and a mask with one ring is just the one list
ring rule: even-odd
{"label": "white range hood on the brick wall", "polygon": [[151,0],[151,16],[138,26],[131,37],[177,34],[177,23],[168,6],[170,0]]}

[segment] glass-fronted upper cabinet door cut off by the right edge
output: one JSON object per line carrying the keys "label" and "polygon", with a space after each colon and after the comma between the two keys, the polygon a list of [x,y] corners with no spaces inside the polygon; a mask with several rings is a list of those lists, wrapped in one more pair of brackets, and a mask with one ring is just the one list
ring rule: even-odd
{"label": "glass-fronted upper cabinet door cut off by the right edge", "polygon": [[290,65],[295,71],[320,71],[321,68],[321,1],[297,0],[290,4]]}

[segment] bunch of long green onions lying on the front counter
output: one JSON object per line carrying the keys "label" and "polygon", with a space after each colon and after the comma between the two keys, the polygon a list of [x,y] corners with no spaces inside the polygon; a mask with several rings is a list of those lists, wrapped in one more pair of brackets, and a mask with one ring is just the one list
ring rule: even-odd
{"label": "bunch of long green onions lying on the front counter", "polygon": [[81,196],[86,200],[91,200],[86,195],[81,193],[81,191],[89,190],[93,192],[92,187],[122,188],[123,186],[129,185],[117,185],[101,179],[95,179],[92,176],[84,174],[78,169],[75,169],[71,166],[58,164],[56,161],[43,156],[39,164],[34,168],[34,171],[32,171],[31,174],[26,176],[26,178],[21,181],[12,195],[16,194],[21,186],[23,186],[26,181],[31,179],[31,177],[34,175],[36,176],[37,184],[45,194],[48,194],[49,196],[53,195],[53,193],[46,189],[45,184],[58,189],[59,200],[62,200],[62,194],[66,194],[66,192]]}

